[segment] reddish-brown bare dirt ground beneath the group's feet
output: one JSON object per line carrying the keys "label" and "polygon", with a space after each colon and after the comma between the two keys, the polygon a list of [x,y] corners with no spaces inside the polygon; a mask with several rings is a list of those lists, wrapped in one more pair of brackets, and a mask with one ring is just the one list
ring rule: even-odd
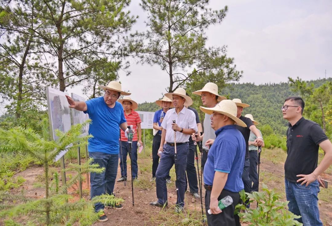
{"label": "reddish-brown bare dirt ground beneath the group's feet", "polygon": [[[150,158],[140,158],[138,159],[139,175],[138,182],[134,183],[134,206],[132,205],[132,193],[131,193],[131,178],[129,177],[124,186],[123,182],[115,184],[114,193],[117,197],[122,197],[124,199],[124,209],[105,209],[105,213],[108,216],[108,221],[106,222],[96,222],[95,226],[154,226],[161,225],[170,219],[179,221],[182,218],[188,219],[191,215],[200,215],[201,213],[201,203],[199,199],[193,198],[193,196],[188,192],[185,196],[185,210],[184,215],[173,214],[172,208],[176,202],[176,191],[174,181],[168,188],[168,201],[169,205],[166,210],[161,210],[159,207],[153,207],[149,205],[150,201],[156,200],[156,190],[154,184],[150,182],[151,178],[151,162]],[[196,166],[196,163],[195,163]],[[140,168],[145,168],[149,170],[141,170]],[[59,168],[56,168],[59,172]],[[128,164],[127,169],[128,175],[130,172],[130,164]],[[260,183],[266,184],[270,189],[276,189],[278,192],[282,193],[284,191],[284,167],[281,163],[273,163],[269,158],[263,158],[262,164],[260,165]],[[19,189],[15,189],[13,193],[22,193],[29,198],[43,198],[44,193],[41,188],[35,188],[34,184],[36,180],[43,174],[42,167],[29,168],[23,172],[18,173],[16,176],[22,176],[26,179],[24,186]],[[271,181],[271,178],[278,178]],[[118,168],[117,179],[120,178],[120,167]],[[332,176],[329,174],[324,174],[323,178],[329,181],[329,186],[332,186]],[[174,180],[174,177],[172,178]],[[86,182],[83,182],[83,190],[85,189],[84,198],[88,198],[88,186]],[[332,189],[332,188],[329,188]],[[23,191],[22,191],[23,190]],[[189,188],[188,188],[189,190]],[[77,186],[68,191],[73,196],[78,198]],[[203,188],[203,205],[204,205],[204,193]],[[285,200],[284,192],[282,193],[283,200]],[[332,198],[332,197],[330,197]],[[319,210],[320,218],[324,222],[324,226],[332,226],[332,201],[319,200]],[[205,213],[205,210],[204,210]],[[162,215],[162,216],[161,216]],[[173,222],[173,221],[170,221]],[[176,224],[174,224],[176,225]],[[196,225],[196,224],[193,224]],[[207,225],[207,223],[205,224]],[[246,225],[246,224],[242,224]]]}

